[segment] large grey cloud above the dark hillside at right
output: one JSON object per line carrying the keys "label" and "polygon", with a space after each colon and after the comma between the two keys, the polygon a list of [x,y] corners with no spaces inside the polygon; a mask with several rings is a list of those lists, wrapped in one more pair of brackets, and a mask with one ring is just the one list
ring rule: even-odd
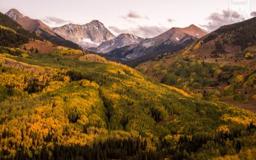
{"label": "large grey cloud above the dark hillside at right", "polygon": [[223,10],[221,13],[212,13],[207,17],[208,23],[200,25],[207,29],[207,31],[214,31],[227,24],[233,24],[245,20],[244,15],[239,14],[236,11]]}

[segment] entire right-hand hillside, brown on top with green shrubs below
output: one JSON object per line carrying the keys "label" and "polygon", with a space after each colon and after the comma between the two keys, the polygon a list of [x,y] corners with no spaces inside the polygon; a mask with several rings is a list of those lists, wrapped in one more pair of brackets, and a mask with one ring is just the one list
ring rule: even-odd
{"label": "entire right-hand hillside, brown on top with green shrubs below", "polygon": [[253,18],[223,26],[182,51],[159,56],[137,68],[191,95],[256,112],[255,22]]}

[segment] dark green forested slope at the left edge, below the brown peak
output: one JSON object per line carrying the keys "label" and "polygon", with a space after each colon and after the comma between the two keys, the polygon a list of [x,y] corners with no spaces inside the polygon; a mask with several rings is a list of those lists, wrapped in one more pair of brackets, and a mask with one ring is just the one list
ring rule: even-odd
{"label": "dark green forested slope at the left edge, below the brown peak", "polygon": [[0,46],[19,47],[31,39],[42,40],[36,33],[27,31],[13,19],[0,12]]}

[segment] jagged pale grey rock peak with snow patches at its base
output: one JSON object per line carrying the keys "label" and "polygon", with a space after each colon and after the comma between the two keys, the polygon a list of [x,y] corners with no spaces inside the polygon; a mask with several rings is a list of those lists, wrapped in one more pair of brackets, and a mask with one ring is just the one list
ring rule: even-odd
{"label": "jagged pale grey rock peak with snow patches at its base", "polygon": [[98,47],[102,42],[115,38],[99,20],[92,20],[92,22],[84,25],[67,24],[52,28],[52,30],[67,40],[79,44],[83,49]]}

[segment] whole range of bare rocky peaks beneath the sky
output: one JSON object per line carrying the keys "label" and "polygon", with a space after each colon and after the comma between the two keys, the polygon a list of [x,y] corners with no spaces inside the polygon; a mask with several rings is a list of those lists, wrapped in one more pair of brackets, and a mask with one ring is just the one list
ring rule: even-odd
{"label": "whole range of bare rocky peaks beneath the sky", "polygon": [[[84,25],[66,24],[49,28],[41,20],[30,19],[19,11],[12,9],[6,13],[13,20],[29,31],[38,33],[51,42],[84,51],[94,52],[126,65],[136,66],[143,61],[155,58],[159,54],[179,51],[207,32],[195,25],[187,28],[172,28],[154,38],[140,38],[131,34],[113,35],[99,20],[92,20]],[[71,43],[71,44],[70,44]]]}

